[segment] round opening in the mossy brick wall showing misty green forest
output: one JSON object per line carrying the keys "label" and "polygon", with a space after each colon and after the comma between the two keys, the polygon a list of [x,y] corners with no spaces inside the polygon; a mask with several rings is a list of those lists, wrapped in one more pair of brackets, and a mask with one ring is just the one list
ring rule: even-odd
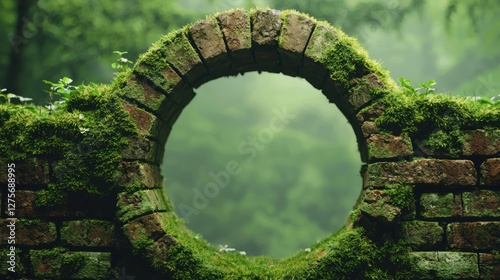
{"label": "round opening in the mossy brick wall showing misty green forest", "polygon": [[189,228],[214,246],[285,257],[345,225],[361,159],[351,125],[323,94],[299,78],[255,72],[196,92],[162,166]]}

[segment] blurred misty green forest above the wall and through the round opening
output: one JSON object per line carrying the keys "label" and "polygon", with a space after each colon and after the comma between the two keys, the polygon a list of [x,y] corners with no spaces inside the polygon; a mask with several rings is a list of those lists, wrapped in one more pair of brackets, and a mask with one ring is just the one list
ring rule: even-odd
{"label": "blurred misty green forest above the wall and through the round opening", "polygon": [[[135,60],[168,31],[231,8],[296,9],[358,38],[394,79],[436,80],[441,92],[498,95],[497,0],[2,0],[0,88],[47,104],[42,80],[109,83],[115,50]],[[361,190],[352,128],[306,81],[277,74],[220,78],[195,90],[166,145],[166,189],[188,226],[215,246],[284,257],[345,223]],[[275,110],[296,115],[252,160],[239,146]],[[240,174],[186,212],[209,172]],[[181,207],[182,208],[182,207]]]}

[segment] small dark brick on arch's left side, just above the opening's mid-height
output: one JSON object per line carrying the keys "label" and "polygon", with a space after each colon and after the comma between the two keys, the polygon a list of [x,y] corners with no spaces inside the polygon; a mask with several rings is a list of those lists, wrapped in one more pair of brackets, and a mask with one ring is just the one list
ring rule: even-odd
{"label": "small dark brick on arch's left side, just above the opening's mid-height", "polygon": [[157,158],[157,153],[158,143],[146,138],[132,138],[121,155],[124,160],[140,160],[159,165],[161,160]]}

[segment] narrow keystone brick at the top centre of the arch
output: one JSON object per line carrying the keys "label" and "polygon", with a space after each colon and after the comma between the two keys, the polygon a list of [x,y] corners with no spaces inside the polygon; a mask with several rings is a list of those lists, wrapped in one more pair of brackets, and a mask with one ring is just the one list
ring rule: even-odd
{"label": "narrow keystone brick at the top centre of the arch", "polygon": [[257,62],[256,69],[279,73],[281,64],[278,55],[278,38],[282,19],[281,11],[255,10],[250,15],[252,23],[252,48]]}

